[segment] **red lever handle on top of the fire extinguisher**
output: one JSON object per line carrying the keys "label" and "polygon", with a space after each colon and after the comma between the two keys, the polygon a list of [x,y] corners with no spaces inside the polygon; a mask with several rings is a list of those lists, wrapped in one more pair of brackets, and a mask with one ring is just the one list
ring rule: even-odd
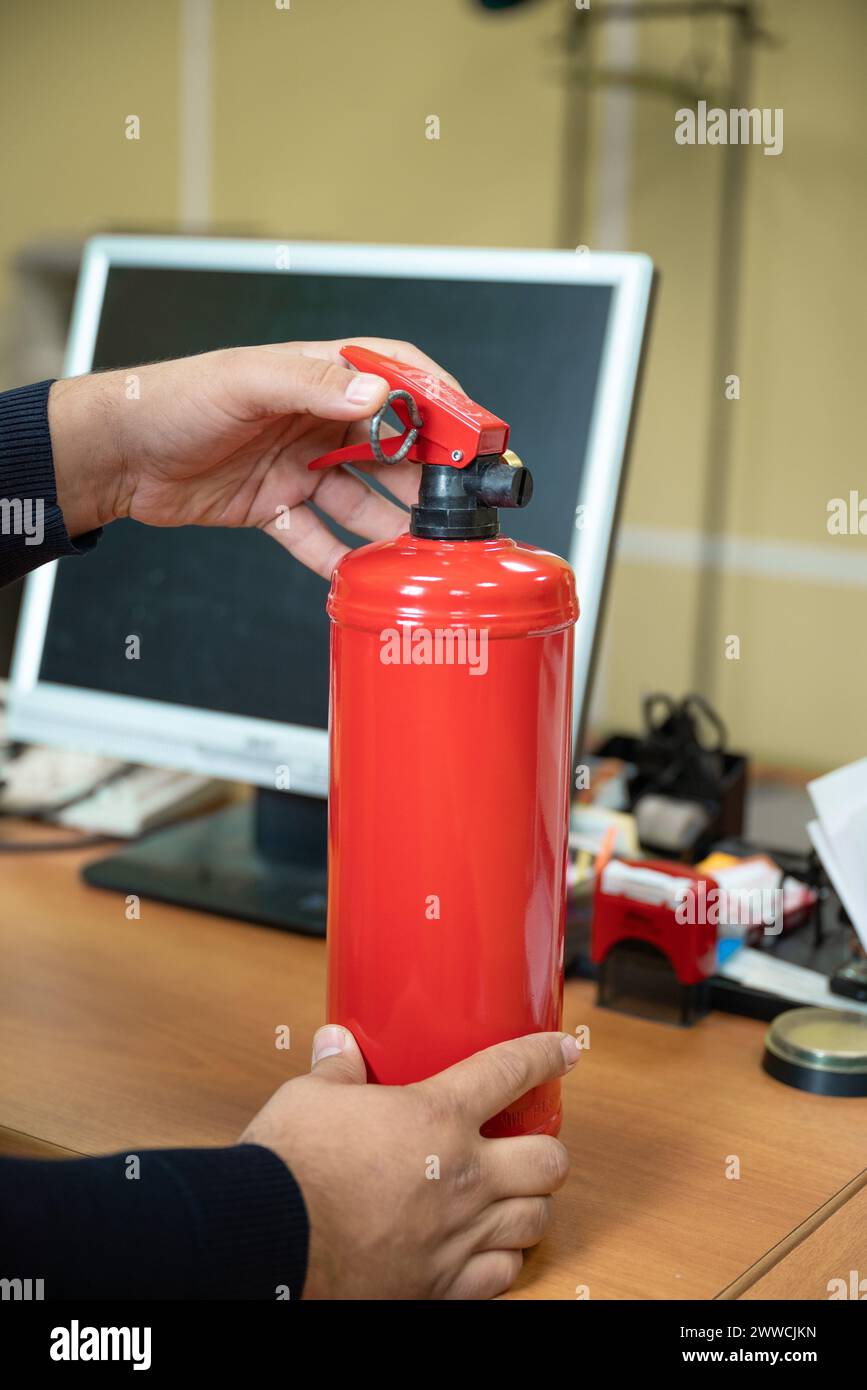
{"label": "red lever handle on top of the fire extinguisher", "polygon": [[[371,348],[340,348],[340,356],[346,357],[358,371],[370,371],[375,377],[382,377],[389,384],[389,391],[407,391],[421,414],[418,435],[403,455],[414,463],[449,464],[453,468],[465,468],[467,464],[478,459],[479,455],[504,453],[509,446],[509,425],[504,420],[477,406],[470,396],[461,395],[447,381],[435,377],[421,367],[411,367],[406,361],[395,357],[383,357],[382,353]],[[400,423],[413,428],[410,410],[404,400],[390,402],[392,409]],[[374,417],[375,418],[375,417]],[[400,439],[386,439],[379,445],[381,453],[388,459],[397,453],[402,446]],[[308,463],[308,468],[331,468],[336,463],[368,463],[375,461],[377,455],[371,443],[347,445],[345,449],[333,449],[320,459]]]}

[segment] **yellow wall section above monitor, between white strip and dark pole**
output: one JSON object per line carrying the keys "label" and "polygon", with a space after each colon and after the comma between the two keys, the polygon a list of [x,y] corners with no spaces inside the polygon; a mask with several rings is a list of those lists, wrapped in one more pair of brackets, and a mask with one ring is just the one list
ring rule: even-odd
{"label": "yellow wall section above monitor, between white strip and dark pole", "polygon": [[[217,0],[215,214],[274,235],[552,245],[556,11]],[[425,139],[438,115],[440,139]]]}

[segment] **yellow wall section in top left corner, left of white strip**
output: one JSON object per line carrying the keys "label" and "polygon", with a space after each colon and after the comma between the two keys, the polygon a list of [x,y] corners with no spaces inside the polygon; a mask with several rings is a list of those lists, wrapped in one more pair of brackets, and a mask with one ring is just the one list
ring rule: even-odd
{"label": "yellow wall section in top left corner, left of white strip", "polygon": [[[0,4],[3,272],[31,239],[174,222],[176,8]],[[131,114],[139,142],[124,138]]]}

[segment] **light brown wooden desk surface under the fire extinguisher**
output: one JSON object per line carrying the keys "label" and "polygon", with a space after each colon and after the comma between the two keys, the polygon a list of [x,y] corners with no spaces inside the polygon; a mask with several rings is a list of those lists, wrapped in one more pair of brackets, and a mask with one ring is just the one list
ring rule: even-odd
{"label": "light brown wooden desk surface under the fire extinguisher", "polygon": [[[81,883],[85,858],[0,855],[0,1148],[232,1143],[307,1066],[324,944],[151,902],[126,920],[124,898]],[[764,1287],[800,1289],[796,1229],[816,1240],[857,1197],[867,1099],[773,1081],[753,1020],[711,1015],[678,1030],[593,998],[567,984],[564,1027],[591,1029],[564,1081],[572,1172],[513,1295],[761,1295],[784,1261]],[[275,1048],[281,1024],[290,1051]],[[739,1179],[727,1177],[732,1158]]]}

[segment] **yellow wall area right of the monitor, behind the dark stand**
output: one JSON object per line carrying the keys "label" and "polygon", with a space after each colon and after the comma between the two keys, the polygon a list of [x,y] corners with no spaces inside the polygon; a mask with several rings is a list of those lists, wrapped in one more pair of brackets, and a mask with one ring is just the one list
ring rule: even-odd
{"label": "yellow wall area right of the monitor, behind the dark stand", "polygon": [[[784,150],[743,149],[748,202],[741,377],[725,530],[763,542],[864,556],[867,537],[829,537],[827,503],[864,492],[863,388],[867,222],[860,0],[773,0],[774,47],[756,50],[752,106],[784,108]],[[693,28],[693,35],[696,33]],[[704,31],[702,31],[704,32]],[[714,33],[711,22],[709,33]],[[717,25],[716,32],[721,38]],[[689,31],[642,31],[641,61],[668,68]],[[725,78],[710,44],[710,78]],[[681,68],[682,71],[682,68]],[[629,243],[661,271],[653,350],[624,524],[700,524],[711,389],[713,274],[720,147],[672,139],[677,103],[642,96],[635,120]],[[867,492],[864,492],[867,495]],[[686,685],[696,623],[695,571],[621,560],[609,610],[607,719],[632,721],[638,692]],[[825,767],[867,752],[867,588],[731,574],[714,616],[713,692],[732,737],[756,756]],[[741,638],[741,659],[724,655]]]}

